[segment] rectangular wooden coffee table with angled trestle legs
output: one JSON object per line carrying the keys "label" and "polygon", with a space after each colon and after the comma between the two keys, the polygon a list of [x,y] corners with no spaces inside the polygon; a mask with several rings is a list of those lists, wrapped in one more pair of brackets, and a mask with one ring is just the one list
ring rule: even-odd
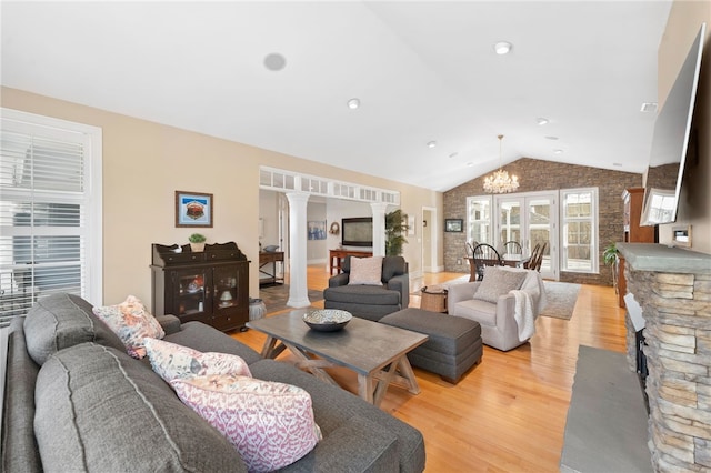
{"label": "rectangular wooden coffee table with angled trestle legs", "polygon": [[302,320],[307,311],[294,310],[247,323],[267,334],[262,356],[273,359],[289,349],[298,359],[297,366],[334,385],[338,384],[323,369],[348,368],[358,374],[358,394],[378,406],[390,384],[420,393],[407,354],[424,343],[427,335],[356,316],[338,332],[317,332]]}

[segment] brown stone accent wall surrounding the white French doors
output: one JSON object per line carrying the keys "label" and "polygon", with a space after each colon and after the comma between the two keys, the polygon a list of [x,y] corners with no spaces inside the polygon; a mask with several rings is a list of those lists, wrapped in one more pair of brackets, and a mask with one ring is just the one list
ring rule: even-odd
{"label": "brown stone accent wall surrounding the white French doors", "polygon": [[[610,171],[585,165],[563,164],[553,161],[522,158],[508,165],[510,174],[519,177],[518,192],[534,192],[560,189],[591,188],[599,189],[599,255],[600,274],[581,274],[561,272],[560,280],[582,284],[612,285],[612,270],[602,262],[602,252],[610,242],[619,242],[624,238],[622,191],[642,185],[642,174]],[[444,192],[444,219],[464,219],[467,221],[467,198],[483,195],[484,178],[472,179]],[[444,232],[444,271],[469,273],[464,243],[467,233]],[[462,264],[457,264],[457,260]]]}

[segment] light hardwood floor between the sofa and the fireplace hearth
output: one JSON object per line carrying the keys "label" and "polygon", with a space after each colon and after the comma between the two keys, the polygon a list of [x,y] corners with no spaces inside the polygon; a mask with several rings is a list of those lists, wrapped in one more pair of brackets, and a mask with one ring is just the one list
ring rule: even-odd
{"label": "light hardwood floor between the sofa and the fireplace hearth", "polygon": [[[428,273],[423,284],[461,275]],[[310,266],[309,288],[326,288],[328,276],[322,266]],[[413,296],[410,305],[419,302]],[[481,364],[457,385],[415,368],[420,394],[388,390],[381,409],[422,432],[428,472],[559,471],[578,346],[624,352],[624,311],[613,288],[582,285],[570,321],[539,318],[535,326],[530,343],[518,349],[484,346]],[[257,350],[264,341],[253,330],[232,336]],[[354,374],[330,372],[357,392]]]}

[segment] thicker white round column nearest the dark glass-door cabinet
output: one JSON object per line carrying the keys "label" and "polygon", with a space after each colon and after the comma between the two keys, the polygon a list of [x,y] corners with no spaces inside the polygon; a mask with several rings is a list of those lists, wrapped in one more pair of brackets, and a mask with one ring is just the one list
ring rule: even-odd
{"label": "thicker white round column nearest the dark glass-door cabinet", "polygon": [[287,192],[289,200],[289,300],[287,305],[308,308],[309,289],[307,285],[307,203],[309,194]]}

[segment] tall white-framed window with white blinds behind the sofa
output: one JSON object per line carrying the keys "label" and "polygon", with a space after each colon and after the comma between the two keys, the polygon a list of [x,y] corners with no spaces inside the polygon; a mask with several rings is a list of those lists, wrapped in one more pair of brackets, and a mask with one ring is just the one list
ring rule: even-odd
{"label": "tall white-framed window with white blinds behind the sofa", "polygon": [[54,292],[101,300],[101,129],[2,109],[0,325]]}

